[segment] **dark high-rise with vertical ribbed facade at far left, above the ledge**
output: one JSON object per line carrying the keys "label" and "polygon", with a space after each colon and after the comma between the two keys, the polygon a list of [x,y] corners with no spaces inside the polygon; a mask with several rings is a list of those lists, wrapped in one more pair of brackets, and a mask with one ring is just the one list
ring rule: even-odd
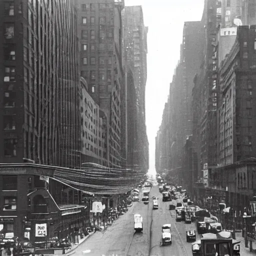
{"label": "dark high-rise with vertical ribbed facade at far left, above the ledge", "polygon": [[0,2],[1,162],[79,165],[76,18],[69,0]]}

